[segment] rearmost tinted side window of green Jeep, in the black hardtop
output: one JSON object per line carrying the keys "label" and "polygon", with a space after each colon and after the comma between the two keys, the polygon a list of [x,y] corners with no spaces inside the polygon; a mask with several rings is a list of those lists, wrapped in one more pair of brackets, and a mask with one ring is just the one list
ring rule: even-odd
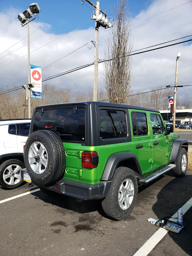
{"label": "rearmost tinted side window of green Jeep, in the black hardtop", "polygon": [[99,131],[102,139],[126,137],[127,127],[124,111],[100,110]]}

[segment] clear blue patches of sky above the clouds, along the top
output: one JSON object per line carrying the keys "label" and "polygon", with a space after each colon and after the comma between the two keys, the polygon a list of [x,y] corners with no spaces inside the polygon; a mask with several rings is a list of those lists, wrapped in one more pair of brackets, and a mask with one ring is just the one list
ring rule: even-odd
{"label": "clear blue patches of sky above the clouds, along the top", "polygon": [[[52,28],[50,29],[50,32],[53,32],[55,34],[69,32],[71,29],[86,21],[87,22],[80,25],[78,29],[86,29],[94,25],[94,22],[90,19],[90,15],[92,14],[94,8],[88,2],[86,2],[86,0],[84,0],[83,4],[81,4],[81,0],[37,0],[36,2],[40,7],[40,13],[38,15],[39,21],[48,22],[49,24],[51,24]],[[149,2],[149,0],[129,0],[128,8],[130,17],[134,17],[142,9],[147,8]],[[8,9],[16,8],[18,9],[19,13],[23,12],[26,8],[28,8],[30,3],[32,3],[32,1],[2,0],[0,4],[0,9],[6,12]],[[93,3],[96,4],[96,1],[93,1]],[[100,9],[106,10],[107,15],[111,16],[112,11],[114,10],[113,6],[115,6],[116,4],[117,0],[100,0],[99,5]],[[71,18],[72,16],[74,17]],[[55,18],[52,19],[53,17]]]}

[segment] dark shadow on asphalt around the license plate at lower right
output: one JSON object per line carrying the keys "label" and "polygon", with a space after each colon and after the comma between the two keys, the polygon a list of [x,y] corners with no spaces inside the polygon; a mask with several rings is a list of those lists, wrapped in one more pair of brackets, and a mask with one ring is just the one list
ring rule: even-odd
{"label": "dark shadow on asphalt around the license plate at lower right", "polygon": [[[172,172],[168,175],[173,176]],[[152,210],[158,218],[172,216],[182,205],[192,197],[192,175],[174,178],[167,183],[157,195],[157,201]],[[186,225],[179,234],[169,231],[168,235],[188,255],[192,255],[192,207],[183,215]],[[175,219],[177,221],[177,219]]]}

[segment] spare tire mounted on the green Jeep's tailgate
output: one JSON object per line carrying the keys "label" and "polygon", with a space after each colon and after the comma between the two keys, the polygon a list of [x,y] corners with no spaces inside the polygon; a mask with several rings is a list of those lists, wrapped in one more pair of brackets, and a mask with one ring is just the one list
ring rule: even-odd
{"label": "spare tire mounted on the green Jeep's tailgate", "polygon": [[24,163],[36,185],[54,185],[65,170],[65,150],[60,137],[50,130],[32,132],[24,147]]}

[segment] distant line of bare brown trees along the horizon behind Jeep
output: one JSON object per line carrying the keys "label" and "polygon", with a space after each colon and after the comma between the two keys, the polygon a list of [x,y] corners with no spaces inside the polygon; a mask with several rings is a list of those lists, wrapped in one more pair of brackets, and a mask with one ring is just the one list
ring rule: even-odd
{"label": "distant line of bare brown trees along the horizon behind Jeep", "polygon": [[[157,90],[158,89],[158,90]],[[2,87],[0,87],[2,91]],[[132,94],[136,94],[131,96]],[[168,108],[168,96],[173,95],[173,88],[161,89],[155,88],[150,92],[133,91],[129,87],[125,95],[125,104],[137,105],[164,110]],[[42,86],[42,98],[31,98],[31,115],[36,106],[66,103],[66,102],[82,102],[93,100],[93,88],[74,92],[71,88],[58,88],[51,84]],[[97,100],[109,102],[105,89],[99,89],[97,92]],[[11,118],[27,118],[28,117],[28,101],[25,99],[25,90],[15,90],[0,95],[0,119]],[[192,101],[187,95],[183,98],[177,98],[177,108],[192,108]]]}

